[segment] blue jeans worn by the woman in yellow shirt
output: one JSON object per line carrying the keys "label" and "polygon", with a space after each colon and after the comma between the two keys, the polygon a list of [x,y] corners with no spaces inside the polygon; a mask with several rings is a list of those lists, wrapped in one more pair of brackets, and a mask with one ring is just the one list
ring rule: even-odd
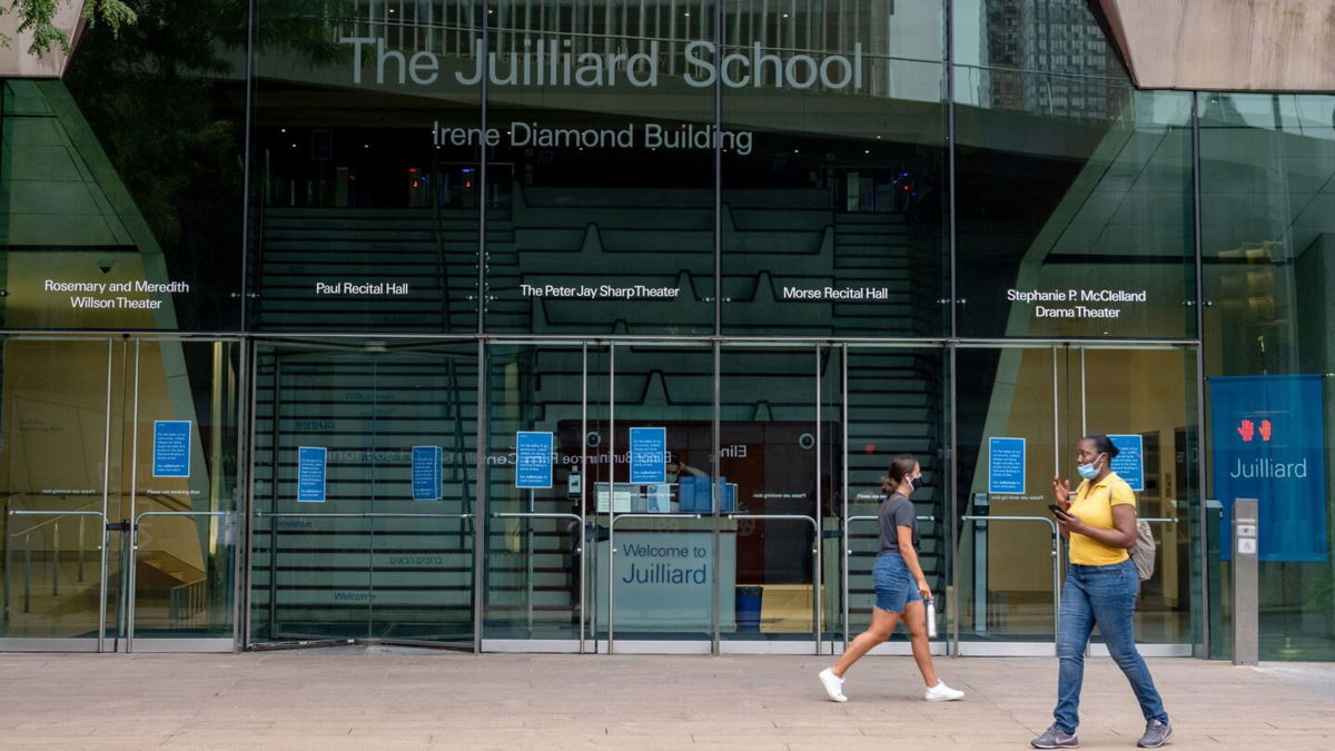
{"label": "blue jeans worn by the woman in yellow shirt", "polygon": [[1080,724],[1080,684],[1084,680],[1084,651],[1095,624],[1103,633],[1108,653],[1121,668],[1140,702],[1145,720],[1168,722],[1163,699],[1149,678],[1144,657],[1136,651],[1132,616],[1140,577],[1129,560],[1112,565],[1071,564],[1067,588],[1061,592],[1061,623],[1057,628],[1057,726],[1075,732]]}

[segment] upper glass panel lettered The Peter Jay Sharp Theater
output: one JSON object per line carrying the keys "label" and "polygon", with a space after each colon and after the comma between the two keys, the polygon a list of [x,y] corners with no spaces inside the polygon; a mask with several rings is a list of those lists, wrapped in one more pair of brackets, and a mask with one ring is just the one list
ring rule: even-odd
{"label": "upper glass panel lettered The Peter Jay Sharp Theater", "polygon": [[712,333],[713,0],[491,8],[487,330]]}

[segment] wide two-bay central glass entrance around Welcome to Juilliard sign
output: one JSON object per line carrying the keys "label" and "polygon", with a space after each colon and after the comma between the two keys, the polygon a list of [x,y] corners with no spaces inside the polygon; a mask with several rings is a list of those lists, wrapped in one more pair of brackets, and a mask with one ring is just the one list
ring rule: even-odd
{"label": "wide two-bay central glass entrance around Welcome to Juilliard sign", "polygon": [[870,615],[900,453],[924,466],[922,563],[944,595],[944,351],[487,345],[482,648],[836,652]]}

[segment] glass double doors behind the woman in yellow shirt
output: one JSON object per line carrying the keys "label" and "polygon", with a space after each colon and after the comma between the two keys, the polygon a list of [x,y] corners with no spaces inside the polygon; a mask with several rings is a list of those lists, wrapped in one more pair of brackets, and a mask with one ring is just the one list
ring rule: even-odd
{"label": "glass double doors behind the woman in yellow shirt", "polygon": [[[1159,540],[1141,585],[1136,637],[1147,653],[1191,653],[1195,351],[1184,347],[961,347],[957,371],[960,525],[956,623],[964,655],[1051,655],[1065,543],[1047,505],[1075,474],[1076,441],[1105,433],[1113,470],[1136,490]],[[971,384],[991,384],[975,389]],[[1072,486],[1079,484],[1075,478]],[[1095,652],[1100,647],[1095,645]]]}

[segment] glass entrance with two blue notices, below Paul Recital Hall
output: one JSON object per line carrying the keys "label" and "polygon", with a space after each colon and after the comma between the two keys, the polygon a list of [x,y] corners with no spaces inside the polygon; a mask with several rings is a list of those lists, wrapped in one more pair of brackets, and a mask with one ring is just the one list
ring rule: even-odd
{"label": "glass entrance with two blue notices, below Paul Recital Hall", "polygon": [[250,641],[473,647],[475,343],[263,345]]}

